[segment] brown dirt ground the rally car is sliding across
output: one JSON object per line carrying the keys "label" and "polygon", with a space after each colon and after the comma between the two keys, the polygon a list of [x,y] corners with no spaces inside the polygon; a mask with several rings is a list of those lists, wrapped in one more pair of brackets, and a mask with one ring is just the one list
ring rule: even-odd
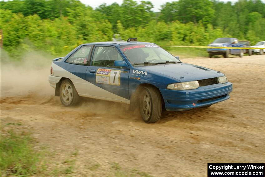
{"label": "brown dirt ground the rally car is sliding across", "polygon": [[34,148],[54,152],[50,166],[73,160],[74,176],[206,176],[207,163],[264,163],[265,55],[181,61],[223,72],[234,86],[231,98],[163,112],[160,122],[146,124],[123,104],[86,99],[78,107],[62,106],[48,83],[49,66],[31,73],[28,87],[30,76],[9,73],[24,83],[16,87],[21,82],[4,80],[4,70],[1,125],[31,132]]}

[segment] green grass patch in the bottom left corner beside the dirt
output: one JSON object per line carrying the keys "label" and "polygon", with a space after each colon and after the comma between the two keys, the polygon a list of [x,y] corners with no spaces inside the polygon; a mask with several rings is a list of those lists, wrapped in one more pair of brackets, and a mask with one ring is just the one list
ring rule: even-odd
{"label": "green grass patch in the bottom left corner beside the dirt", "polygon": [[8,136],[0,135],[0,138],[1,175],[31,176],[46,169],[40,153],[32,148],[33,139],[29,135],[16,135],[10,131]]}

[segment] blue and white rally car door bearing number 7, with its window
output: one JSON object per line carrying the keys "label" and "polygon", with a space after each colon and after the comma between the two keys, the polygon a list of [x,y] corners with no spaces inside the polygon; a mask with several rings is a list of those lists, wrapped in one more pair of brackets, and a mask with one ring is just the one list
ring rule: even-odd
{"label": "blue and white rally car door bearing number 7, with its window", "polygon": [[115,60],[123,60],[114,46],[94,47],[91,63],[86,71],[90,97],[103,100],[129,102],[129,68],[115,67]]}

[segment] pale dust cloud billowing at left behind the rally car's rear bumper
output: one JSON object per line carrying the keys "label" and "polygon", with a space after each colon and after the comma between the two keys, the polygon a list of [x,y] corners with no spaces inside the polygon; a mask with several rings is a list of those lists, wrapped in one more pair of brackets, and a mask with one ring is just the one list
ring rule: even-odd
{"label": "pale dust cloud billowing at left behind the rally car's rear bumper", "polygon": [[52,56],[31,51],[17,61],[1,49],[0,59],[0,97],[31,93],[41,96],[54,94],[48,82]]}

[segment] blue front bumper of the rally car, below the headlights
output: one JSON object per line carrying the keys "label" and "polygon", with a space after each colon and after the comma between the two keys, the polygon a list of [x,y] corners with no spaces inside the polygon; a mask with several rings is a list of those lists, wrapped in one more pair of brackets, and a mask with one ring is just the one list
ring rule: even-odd
{"label": "blue front bumper of the rally car, below the headlights", "polygon": [[225,84],[201,86],[193,90],[159,90],[165,101],[167,111],[184,111],[229,99],[233,85],[227,82]]}

